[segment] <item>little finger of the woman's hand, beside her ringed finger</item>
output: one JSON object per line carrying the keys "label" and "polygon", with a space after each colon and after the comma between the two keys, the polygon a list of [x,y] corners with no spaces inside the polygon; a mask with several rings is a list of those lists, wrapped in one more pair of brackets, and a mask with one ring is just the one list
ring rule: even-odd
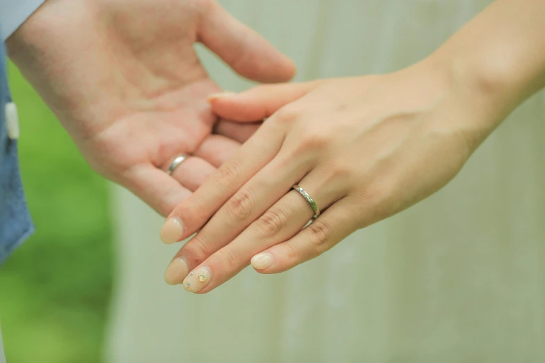
{"label": "little finger of the woman's hand, beside her ringed finger", "polygon": [[255,255],[253,268],[258,273],[281,273],[322,255],[357,229],[353,210],[347,198],[339,200],[292,239]]}

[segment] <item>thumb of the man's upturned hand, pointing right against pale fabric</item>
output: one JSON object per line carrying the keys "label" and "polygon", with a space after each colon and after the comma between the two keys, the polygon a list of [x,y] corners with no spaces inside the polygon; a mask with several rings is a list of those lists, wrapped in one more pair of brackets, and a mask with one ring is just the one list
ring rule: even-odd
{"label": "thumb of the man's upturned hand, pointing right against pale fabric", "polygon": [[241,76],[264,83],[289,81],[295,65],[258,33],[232,17],[216,1],[207,8],[198,40]]}

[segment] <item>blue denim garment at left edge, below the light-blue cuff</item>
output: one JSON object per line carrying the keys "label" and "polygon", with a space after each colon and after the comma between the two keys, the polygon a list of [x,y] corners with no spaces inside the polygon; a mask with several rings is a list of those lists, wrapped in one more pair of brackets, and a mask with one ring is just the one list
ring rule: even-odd
{"label": "blue denim garment at left edge, below the light-blue cuff", "polygon": [[6,127],[10,102],[6,51],[0,42],[0,265],[34,230],[19,174],[17,140],[9,138]]}

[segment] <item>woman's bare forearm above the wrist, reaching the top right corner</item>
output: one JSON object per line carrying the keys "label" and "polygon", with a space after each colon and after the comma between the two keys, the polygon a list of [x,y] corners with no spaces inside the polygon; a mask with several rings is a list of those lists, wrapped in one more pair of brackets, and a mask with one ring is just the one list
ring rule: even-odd
{"label": "woman's bare forearm above the wrist, reaching the top right corner", "polygon": [[496,0],[430,58],[500,122],[545,86],[545,1]]}

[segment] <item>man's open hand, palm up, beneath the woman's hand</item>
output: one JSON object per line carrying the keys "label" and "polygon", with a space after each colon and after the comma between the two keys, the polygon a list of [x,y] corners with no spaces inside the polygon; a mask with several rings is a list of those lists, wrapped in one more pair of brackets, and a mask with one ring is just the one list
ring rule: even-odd
{"label": "man's open hand, palm up, beneath the woman's hand", "polygon": [[[206,97],[219,88],[195,42],[249,79],[294,74],[214,0],[48,0],[7,44],[90,166],[167,215],[251,134],[247,125],[212,134]],[[170,177],[178,154],[194,156]]]}

